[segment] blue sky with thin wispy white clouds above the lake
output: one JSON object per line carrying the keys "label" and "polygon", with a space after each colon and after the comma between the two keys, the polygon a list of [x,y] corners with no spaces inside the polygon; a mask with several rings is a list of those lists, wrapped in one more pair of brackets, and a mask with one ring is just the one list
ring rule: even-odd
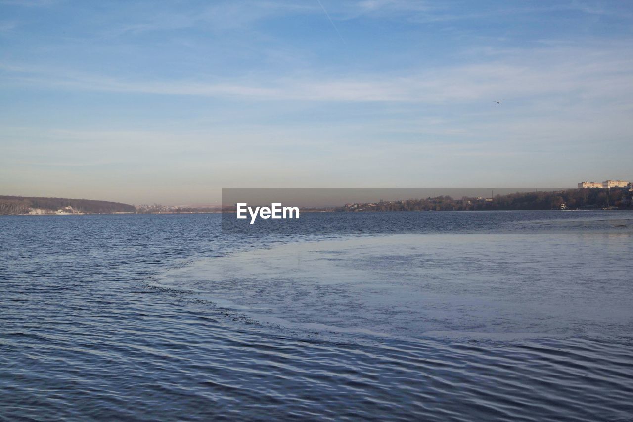
{"label": "blue sky with thin wispy white clouds above the lake", "polygon": [[631,180],[632,98],[629,1],[0,0],[0,195]]}

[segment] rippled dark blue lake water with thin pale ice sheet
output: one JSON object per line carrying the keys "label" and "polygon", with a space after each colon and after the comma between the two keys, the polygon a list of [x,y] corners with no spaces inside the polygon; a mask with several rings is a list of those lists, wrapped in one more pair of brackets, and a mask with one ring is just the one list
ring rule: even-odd
{"label": "rippled dark blue lake water with thin pale ice sheet", "polygon": [[633,214],[301,218],[0,217],[0,418],[633,419]]}

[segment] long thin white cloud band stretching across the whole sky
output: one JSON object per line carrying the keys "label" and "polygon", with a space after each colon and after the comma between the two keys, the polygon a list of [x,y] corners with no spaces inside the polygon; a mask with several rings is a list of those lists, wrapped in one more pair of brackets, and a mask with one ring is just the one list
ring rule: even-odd
{"label": "long thin white cloud band stretching across the whole sky", "polygon": [[633,54],[618,44],[592,48],[546,46],[491,52],[487,60],[467,65],[413,69],[380,74],[301,74],[232,79],[131,80],[66,69],[1,63],[4,79],[14,84],[53,89],[113,93],[203,96],[252,101],[402,102],[467,104],[506,98],[539,97],[568,101],[622,101],[633,94]]}

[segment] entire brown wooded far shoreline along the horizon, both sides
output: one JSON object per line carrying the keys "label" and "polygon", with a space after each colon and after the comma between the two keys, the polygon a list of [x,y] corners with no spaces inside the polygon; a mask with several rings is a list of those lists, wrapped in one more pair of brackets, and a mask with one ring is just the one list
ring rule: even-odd
{"label": "entire brown wooded far shoreline along the horizon, both sides", "polygon": [[[342,207],[301,208],[301,212],[369,211],[493,211],[493,210],[592,210],[633,209],[633,189],[580,188],[496,195],[492,198],[454,199],[450,196],[348,203]],[[235,207],[174,207],[128,205],[111,201],[68,198],[0,196],[0,215],[84,215],[84,214],[203,214],[235,212]]]}

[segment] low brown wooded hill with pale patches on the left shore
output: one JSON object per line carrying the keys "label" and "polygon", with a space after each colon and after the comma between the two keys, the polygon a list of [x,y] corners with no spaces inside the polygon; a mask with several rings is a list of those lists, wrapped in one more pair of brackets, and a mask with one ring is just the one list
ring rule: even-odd
{"label": "low brown wooded hill with pale patches on the left shore", "polygon": [[136,208],[127,203],[94,201],[68,198],[30,198],[27,196],[0,196],[0,214],[113,214],[115,212],[135,212]]}

